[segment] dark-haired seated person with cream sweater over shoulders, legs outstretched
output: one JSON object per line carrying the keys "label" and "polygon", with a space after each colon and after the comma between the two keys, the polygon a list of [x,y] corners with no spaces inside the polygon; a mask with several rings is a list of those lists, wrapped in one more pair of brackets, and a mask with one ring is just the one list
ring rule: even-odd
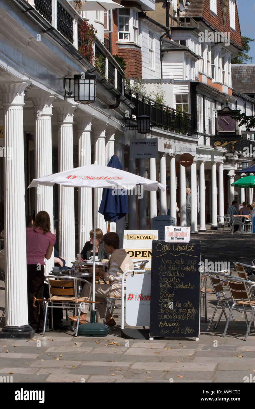
{"label": "dark-haired seated person with cream sweater over shoulders, legs outstretched", "polygon": [[[110,281],[110,283],[114,283],[115,281],[120,281],[122,278],[122,274],[127,270],[133,270],[133,261],[126,253],[124,249],[120,249],[120,238],[117,233],[111,232],[106,233],[102,241],[104,243],[104,247],[107,253],[111,254],[111,258],[108,263],[108,270],[104,272],[103,267],[96,268],[96,274],[102,277],[106,281]],[[93,267],[90,267],[91,272],[93,272]],[[104,313],[106,309],[106,298],[109,294],[110,284],[95,284],[95,301],[103,301],[102,304],[97,304],[98,312],[100,318],[104,318]],[[90,287],[88,284],[85,284],[83,290],[81,292],[81,297],[89,297],[90,295]],[[112,297],[121,297],[121,283],[113,284],[111,288],[111,296]],[[81,308],[81,315],[79,322],[81,324],[86,323],[87,312],[88,312],[89,304]],[[76,317],[68,317],[72,321],[77,321],[78,316]],[[115,320],[111,317],[110,311],[108,310],[106,313],[106,321],[105,323],[112,327],[116,325]]]}

